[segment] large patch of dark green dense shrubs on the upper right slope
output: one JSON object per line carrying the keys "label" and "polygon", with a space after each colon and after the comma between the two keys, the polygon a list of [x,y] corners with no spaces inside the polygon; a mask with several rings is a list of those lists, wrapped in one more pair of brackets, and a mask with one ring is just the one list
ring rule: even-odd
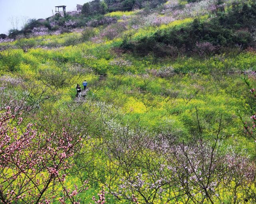
{"label": "large patch of dark green dense shrubs on the upper right slope", "polygon": [[251,34],[255,32],[256,27],[256,4],[250,7],[243,4],[242,8],[239,4],[233,4],[227,13],[218,13],[219,10],[224,10],[220,8],[216,6],[217,15],[207,21],[200,22],[200,19],[196,18],[186,27],[175,26],[172,29],[161,29],[153,36],[143,37],[137,41],[125,41],[122,47],[140,54],[152,51],[160,52],[158,54],[169,54],[171,48],[159,51],[159,47],[172,45],[191,54],[205,51],[207,55],[223,52],[223,49],[225,51],[227,47],[248,48],[253,41]]}

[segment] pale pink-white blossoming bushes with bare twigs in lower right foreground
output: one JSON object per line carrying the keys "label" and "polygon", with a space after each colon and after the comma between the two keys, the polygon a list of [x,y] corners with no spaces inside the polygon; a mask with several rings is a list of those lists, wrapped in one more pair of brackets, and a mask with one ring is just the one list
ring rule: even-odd
{"label": "pale pink-white blossoming bushes with bare twigs in lower right foreground", "polygon": [[105,148],[101,148],[111,161],[111,171],[105,177],[110,180],[102,183],[117,198],[135,203],[172,203],[189,198],[194,204],[254,200],[249,196],[254,189],[254,162],[245,152],[235,153],[232,148],[220,151],[218,135],[206,142],[199,130],[200,138],[185,144],[168,133],[151,138],[143,130],[113,122],[107,126]]}

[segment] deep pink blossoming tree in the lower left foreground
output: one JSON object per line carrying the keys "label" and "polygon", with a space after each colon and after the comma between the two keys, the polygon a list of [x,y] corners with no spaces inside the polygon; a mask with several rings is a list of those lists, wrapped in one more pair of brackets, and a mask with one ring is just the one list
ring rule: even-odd
{"label": "deep pink blossoming tree in the lower left foreground", "polygon": [[65,177],[81,137],[66,128],[49,133],[38,132],[36,124],[21,126],[16,113],[10,107],[0,113],[0,203],[79,204],[86,183],[67,189]]}

